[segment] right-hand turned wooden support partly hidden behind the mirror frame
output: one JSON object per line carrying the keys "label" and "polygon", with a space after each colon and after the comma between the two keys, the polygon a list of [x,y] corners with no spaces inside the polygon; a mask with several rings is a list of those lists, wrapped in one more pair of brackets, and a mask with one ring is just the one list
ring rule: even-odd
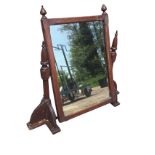
{"label": "right-hand turned wooden support partly hidden behind the mirror frame", "polygon": [[[114,62],[116,60],[116,56],[117,56],[117,53],[116,53],[116,50],[117,50],[117,36],[118,36],[118,32],[116,31],[115,33],[115,37],[113,39],[113,42],[112,42],[112,47],[111,47],[111,50],[110,50],[110,56],[111,56],[111,60],[112,60],[112,70],[113,70],[113,65],[114,65]],[[114,87],[114,92],[113,92],[113,101],[112,101],[112,105],[113,106],[118,106],[120,103],[117,101],[117,95],[118,95],[118,90],[117,90],[117,83],[113,80],[113,87]]]}

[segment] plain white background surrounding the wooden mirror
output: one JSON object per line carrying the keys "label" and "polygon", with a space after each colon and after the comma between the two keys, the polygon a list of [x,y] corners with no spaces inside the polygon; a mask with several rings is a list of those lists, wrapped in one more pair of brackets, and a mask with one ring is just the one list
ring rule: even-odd
{"label": "plain white background surrounding the wooden mirror", "polygon": [[[42,98],[40,7],[48,17],[101,14],[105,3],[111,40],[118,30],[114,75],[120,106],[110,104],[59,124],[29,131]],[[0,154],[155,154],[154,0],[5,0],[0,2]],[[53,96],[51,96],[53,101]]]}

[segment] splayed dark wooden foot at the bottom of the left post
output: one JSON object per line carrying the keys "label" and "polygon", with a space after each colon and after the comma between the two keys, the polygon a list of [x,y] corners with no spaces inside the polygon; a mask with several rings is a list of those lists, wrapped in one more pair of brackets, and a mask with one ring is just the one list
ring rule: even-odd
{"label": "splayed dark wooden foot at the bottom of the left post", "polygon": [[29,129],[34,129],[44,124],[47,125],[53,134],[60,131],[60,128],[56,124],[56,115],[51,106],[51,100],[43,98],[38,107],[33,111],[27,126]]}

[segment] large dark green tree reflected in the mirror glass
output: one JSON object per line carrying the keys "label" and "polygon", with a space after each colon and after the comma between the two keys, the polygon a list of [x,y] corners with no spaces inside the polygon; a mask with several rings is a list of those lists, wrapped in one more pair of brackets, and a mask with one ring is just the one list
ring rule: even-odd
{"label": "large dark green tree reflected in the mirror glass", "polygon": [[61,31],[68,32],[70,63],[78,81],[106,74],[103,27],[100,22],[65,24]]}

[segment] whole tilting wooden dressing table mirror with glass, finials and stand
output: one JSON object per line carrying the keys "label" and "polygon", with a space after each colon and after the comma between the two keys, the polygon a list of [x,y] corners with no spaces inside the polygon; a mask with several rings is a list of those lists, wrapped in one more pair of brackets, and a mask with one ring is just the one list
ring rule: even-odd
{"label": "whole tilting wooden dressing table mirror with glass, finials and stand", "polygon": [[[46,124],[55,134],[60,131],[57,119],[64,122],[108,103],[119,105],[113,80],[117,31],[110,47],[106,6],[101,10],[97,16],[50,19],[42,6],[44,96],[27,123],[29,129]],[[50,100],[50,78],[56,112]]]}

